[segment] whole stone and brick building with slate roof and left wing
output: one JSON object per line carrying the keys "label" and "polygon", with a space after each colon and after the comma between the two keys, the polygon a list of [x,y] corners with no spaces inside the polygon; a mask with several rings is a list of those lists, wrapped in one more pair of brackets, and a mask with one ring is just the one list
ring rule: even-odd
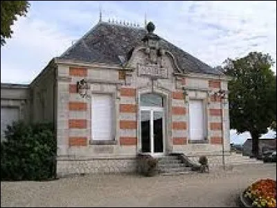
{"label": "whole stone and brick building with slate roof and left wing", "polygon": [[131,172],[136,156],[229,154],[229,78],[145,28],[100,21],[30,85],[1,83],[1,133],[55,123],[57,175]]}

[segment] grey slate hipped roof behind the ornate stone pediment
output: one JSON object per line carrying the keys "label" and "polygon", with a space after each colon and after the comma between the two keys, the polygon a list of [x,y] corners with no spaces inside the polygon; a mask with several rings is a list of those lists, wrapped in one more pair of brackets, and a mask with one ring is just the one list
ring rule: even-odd
{"label": "grey slate hipped roof behind the ornate stone pediment", "polygon": [[[141,44],[147,33],[144,28],[99,22],[57,59],[122,64],[123,60],[127,60],[130,51]],[[175,56],[184,73],[222,74],[163,38],[160,40],[160,46]]]}

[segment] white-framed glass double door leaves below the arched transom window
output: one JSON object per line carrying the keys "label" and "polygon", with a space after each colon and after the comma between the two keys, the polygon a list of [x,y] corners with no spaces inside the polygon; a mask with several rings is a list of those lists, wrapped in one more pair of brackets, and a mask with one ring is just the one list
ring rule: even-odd
{"label": "white-framed glass double door leaves below the arched transom window", "polygon": [[141,107],[140,111],[142,152],[152,155],[163,154],[163,107]]}

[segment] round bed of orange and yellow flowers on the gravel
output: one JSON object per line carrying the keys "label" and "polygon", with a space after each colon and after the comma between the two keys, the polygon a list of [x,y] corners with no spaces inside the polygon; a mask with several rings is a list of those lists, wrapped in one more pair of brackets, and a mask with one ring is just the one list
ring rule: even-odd
{"label": "round bed of orange and yellow flowers on the gravel", "polygon": [[258,180],[244,191],[244,198],[253,207],[276,207],[276,180]]}

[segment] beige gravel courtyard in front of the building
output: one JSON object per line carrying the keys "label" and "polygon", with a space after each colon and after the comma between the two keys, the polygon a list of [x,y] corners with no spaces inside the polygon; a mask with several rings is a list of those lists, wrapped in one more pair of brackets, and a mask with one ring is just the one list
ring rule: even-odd
{"label": "beige gravel courtyard in front of the building", "polygon": [[84,175],[50,182],[1,182],[1,207],[236,207],[238,193],[276,164],[193,175]]}

